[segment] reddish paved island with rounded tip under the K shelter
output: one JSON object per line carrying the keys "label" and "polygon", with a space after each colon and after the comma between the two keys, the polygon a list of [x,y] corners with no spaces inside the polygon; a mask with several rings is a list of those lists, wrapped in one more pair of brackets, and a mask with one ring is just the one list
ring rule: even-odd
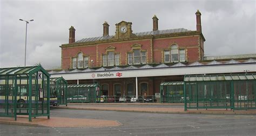
{"label": "reddish paved island with rounded tip under the K shelter", "polygon": [[46,127],[106,127],[122,125],[116,120],[84,119],[84,118],[62,118],[62,117],[37,117],[29,121],[28,117],[19,116],[14,118],[0,117],[0,124],[46,126]]}

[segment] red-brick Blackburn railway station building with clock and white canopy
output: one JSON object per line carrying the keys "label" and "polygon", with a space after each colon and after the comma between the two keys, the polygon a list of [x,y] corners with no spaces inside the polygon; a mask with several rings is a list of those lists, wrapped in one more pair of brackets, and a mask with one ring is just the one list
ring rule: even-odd
{"label": "red-brick Blackburn railway station building with clock and white canopy", "polygon": [[[197,30],[174,28],[134,33],[131,22],[103,24],[100,37],[75,40],[69,28],[69,43],[62,44],[62,69],[51,77],[63,77],[68,84],[98,83],[106,96],[152,96],[161,82],[183,81],[185,75],[241,74],[256,72],[256,54],[205,56],[201,13],[196,12]],[[134,30],[136,31],[136,30]]]}

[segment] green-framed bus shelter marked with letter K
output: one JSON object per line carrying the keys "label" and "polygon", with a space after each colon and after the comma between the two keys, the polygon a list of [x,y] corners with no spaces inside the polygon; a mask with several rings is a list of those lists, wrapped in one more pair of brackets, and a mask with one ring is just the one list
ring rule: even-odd
{"label": "green-framed bus shelter marked with letter K", "polygon": [[41,66],[0,68],[0,116],[50,118],[50,74]]}

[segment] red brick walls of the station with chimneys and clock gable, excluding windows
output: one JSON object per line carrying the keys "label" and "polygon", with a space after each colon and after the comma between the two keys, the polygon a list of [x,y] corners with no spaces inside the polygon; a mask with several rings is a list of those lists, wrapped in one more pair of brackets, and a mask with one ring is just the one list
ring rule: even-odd
{"label": "red brick walls of the station with chimneys and clock gable, excluding windows", "polygon": [[[179,49],[185,51],[185,61],[182,63],[192,63],[194,61],[200,61],[204,56],[204,36],[201,33],[201,20],[200,12],[196,13],[197,20],[197,31],[184,31],[185,29],[179,29],[180,32],[164,33],[164,31],[158,31],[158,23],[156,16],[153,17],[153,30],[152,33],[156,34],[133,34],[131,24],[127,22],[120,22],[116,24],[116,35],[108,35],[108,24],[105,22],[103,24],[103,39],[102,40],[80,40],[77,42],[71,42],[69,44],[63,44],[62,48],[62,69],[73,69],[72,68],[72,58],[76,58],[78,53],[83,53],[83,56],[89,56],[89,68],[102,67],[103,66],[103,56],[107,54],[108,51],[118,53],[120,67],[128,65],[128,53],[133,52],[133,49],[140,49],[140,51],[146,51],[146,64],[149,65],[159,65],[159,63],[165,63],[165,51],[170,50],[172,45],[178,46]],[[127,32],[120,30],[122,26],[127,28]],[[107,27],[106,27],[107,26]],[[72,29],[71,36],[75,35],[75,29]],[[159,32],[159,33],[157,33]],[[146,32],[145,32],[146,33]],[[105,38],[105,39],[104,39]],[[75,37],[71,37],[75,40]],[[96,38],[97,39],[97,38]],[[91,61],[93,60],[93,61]],[[93,64],[92,64],[93,62]],[[177,62],[168,62],[167,65],[173,65]],[[144,64],[145,65],[145,64]],[[142,66],[142,65],[141,65]],[[114,67],[114,66],[113,66]],[[146,95],[154,95],[155,92],[159,92],[159,84],[162,81],[179,81],[182,78],[178,77],[176,79],[170,77],[141,77],[138,78],[138,95],[142,95],[142,90],[140,90],[140,84],[147,84]],[[91,83],[90,80],[80,80],[79,83]],[[121,95],[127,94],[127,84],[132,83],[135,89],[135,79],[134,78],[121,78],[121,79],[111,79],[104,80],[100,79],[96,81],[100,85],[107,84],[108,93],[107,95],[114,94],[115,84],[120,84],[122,91]],[[76,83],[76,81],[69,81],[69,83]],[[134,92],[135,93],[135,92]]]}

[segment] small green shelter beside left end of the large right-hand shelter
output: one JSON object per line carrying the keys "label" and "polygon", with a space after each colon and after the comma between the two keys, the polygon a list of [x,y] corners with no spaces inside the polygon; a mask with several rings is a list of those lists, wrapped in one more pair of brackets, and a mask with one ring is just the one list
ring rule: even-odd
{"label": "small green shelter beside left end of the large right-hand shelter", "polygon": [[161,82],[161,103],[184,102],[184,82]]}

